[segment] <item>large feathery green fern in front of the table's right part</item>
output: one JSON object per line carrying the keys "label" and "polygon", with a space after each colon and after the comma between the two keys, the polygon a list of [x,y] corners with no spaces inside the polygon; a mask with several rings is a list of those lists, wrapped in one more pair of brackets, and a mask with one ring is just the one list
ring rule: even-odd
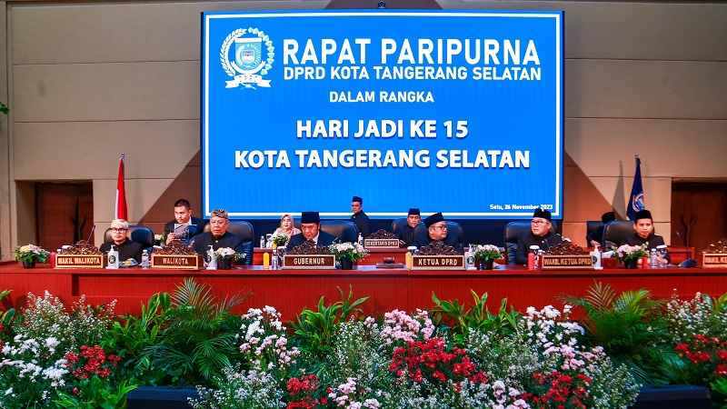
{"label": "large feathery green fern in front of the table's right part", "polygon": [[615,364],[625,364],[636,382],[664,384],[661,367],[681,365],[660,314],[663,301],[652,300],[648,290],[616,294],[611,286],[595,283],[579,298],[561,294],[564,304],[580,306],[586,343],[603,346]]}

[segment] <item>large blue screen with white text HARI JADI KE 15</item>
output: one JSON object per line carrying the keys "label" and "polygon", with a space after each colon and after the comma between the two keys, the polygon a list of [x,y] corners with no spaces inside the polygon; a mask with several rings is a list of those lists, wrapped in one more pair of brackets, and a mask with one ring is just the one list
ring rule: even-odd
{"label": "large blue screen with white text HARI JADI KE 15", "polygon": [[203,21],[205,215],[562,217],[562,12]]}

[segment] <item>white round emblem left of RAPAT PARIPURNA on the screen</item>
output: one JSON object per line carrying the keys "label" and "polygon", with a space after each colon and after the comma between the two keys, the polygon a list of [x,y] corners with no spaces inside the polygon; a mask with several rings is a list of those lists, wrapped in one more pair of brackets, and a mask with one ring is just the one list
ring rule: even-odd
{"label": "white round emblem left of RAPAT PARIPURNA on the screen", "polygon": [[224,72],[233,79],[225,81],[225,88],[255,89],[255,85],[269,88],[270,80],[263,76],[273,68],[274,50],[270,37],[257,28],[238,28],[227,35],[220,49],[220,62]]}

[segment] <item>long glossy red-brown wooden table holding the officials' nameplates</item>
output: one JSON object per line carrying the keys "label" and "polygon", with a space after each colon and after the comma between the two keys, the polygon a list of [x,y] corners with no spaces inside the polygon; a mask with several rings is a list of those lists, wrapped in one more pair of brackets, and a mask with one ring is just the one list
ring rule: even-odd
{"label": "long glossy red-brown wooden table holding the officials' nameplates", "polygon": [[212,286],[219,296],[239,291],[254,295],[244,309],[272,305],[284,320],[294,319],[304,308],[313,309],[321,296],[325,304],[341,299],[337,288],[354,298],[368,296],[362,305],[365,314],[383,314],[393,309],[413,311],[431,309],[432,294],[442,300],[470,304],[470,289],[488,293],[488,305],[496,313],[503,298],[516,310],[528,306],[538,309],[553,304],[562,306],[559,294],[583,295],[595,282],[611,284],[618,291],[648,289],[657,298],[669,298],[676,290],[682,299],[697,292],[727,293],[727,268],[678,268],[600,271],[528,271],[521,266],[499,266],[493,271],[409,271],[354,266],[354,270],[264,270],[261,266],[238,267],[229,271],[142,270],[139,267],[113,270],[52,269],[38,264],[24,269],[16,263],[0,264],[0,291],[13,290],[4,308],[24,306],[27,293],[58,296],[66,305],[85,295],[86,304],[105,304],[117,300],[117,314],[138,314],[141,304],[152,294],[173,293],[185,277],[194,277]]}

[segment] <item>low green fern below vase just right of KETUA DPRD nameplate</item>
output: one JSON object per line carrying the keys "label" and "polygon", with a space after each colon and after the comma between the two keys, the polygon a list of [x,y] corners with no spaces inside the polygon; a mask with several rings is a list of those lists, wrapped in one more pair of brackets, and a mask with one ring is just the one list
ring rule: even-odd
{"label": "low green fern below vase just right of KETUA DPRD nameplate", "polygon": [[500,311],[495,315],[490,313],[485,305],[487,293],[479,296],[472,289],[470,293],[473,296],[474,304],[469,304],[470,308],[467,311],[464,311],[464,305],[460,305],[457,300],[441,301],[436,294],[432,293],[432,301],[436,305],[432,310],[433,316],[440,323],[450,325],[447,328],[451,329],[454,340],[458,344],[465,343],[471,330],[501,335],[518,334],[517,320],[520,313],[516,312],[512,305],[510,311],[507,311],[507,298],[503,298],[500,303]]}

